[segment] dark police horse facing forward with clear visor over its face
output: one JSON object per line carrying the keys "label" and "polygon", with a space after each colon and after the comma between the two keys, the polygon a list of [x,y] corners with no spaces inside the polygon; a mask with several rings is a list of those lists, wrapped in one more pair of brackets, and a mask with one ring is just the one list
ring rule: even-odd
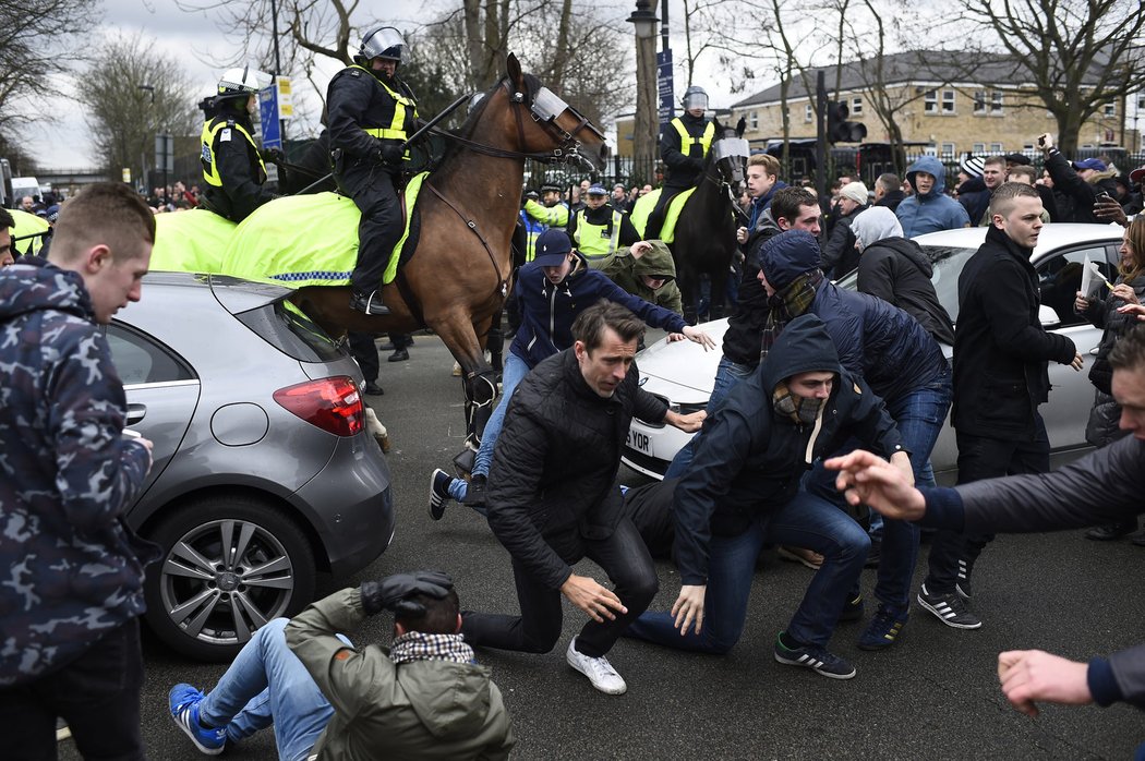
{"label": "dark police horse facing forward with clear visor over its face", "polygon": [[680,211],[669,244],[684,301],[684,318],[689,324],[696,322],[704,275],[711,285],[710,319],[724,316],[727,279],[736,252],[735,231],[747,223],[736,203],[750,152],[748,141],[743,140],[745,126],[742,118],[735,129],[716,121],[719,137],[704,159],[703,174]]}

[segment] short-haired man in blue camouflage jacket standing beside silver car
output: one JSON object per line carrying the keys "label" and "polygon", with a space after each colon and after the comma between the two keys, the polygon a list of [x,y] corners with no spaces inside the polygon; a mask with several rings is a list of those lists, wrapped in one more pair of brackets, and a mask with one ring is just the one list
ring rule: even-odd
{"label": "short-haired man in blue camouflage jacket standing beside silver car", "polygon": [[124,435],[127,398],[104,326],[139,301],[155,217],[127,185],[68,201],[48,259],[0,275],[0,711],[5,756],[55,758],[56,716],[81,755],[142,759],[143,569],[126,526],[151,442]]}

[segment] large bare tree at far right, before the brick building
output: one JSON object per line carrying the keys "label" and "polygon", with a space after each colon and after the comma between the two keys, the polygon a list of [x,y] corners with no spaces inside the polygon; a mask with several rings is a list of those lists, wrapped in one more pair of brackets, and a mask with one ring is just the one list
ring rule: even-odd
{"label": "large bare tree at far right, before the brick building", "polygon": [[[1145,87],[1145,11],[1132,0],[961,0],[968,17],[1014,58],[1017,81],[1058,122],[1058,145],[1077,146],[1082,125],[1106,103]],[[1122,114],[1123,116],[1123,114]]]}

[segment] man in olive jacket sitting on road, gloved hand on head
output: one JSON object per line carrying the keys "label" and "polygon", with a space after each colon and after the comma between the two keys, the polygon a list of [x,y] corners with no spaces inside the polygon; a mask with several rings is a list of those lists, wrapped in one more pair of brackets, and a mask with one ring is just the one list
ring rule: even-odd
{"label": "man in olive jacket sitting on road, gloved hand on head", "polygon": [[[384,610],[394,612],[388,650],[340,634]],[[365,581],[268,623],[210,692],[173,687],[171,715],[207,755],[274,726],[289,761],[507,759],[508,711],[460,627],[440,571]]]}

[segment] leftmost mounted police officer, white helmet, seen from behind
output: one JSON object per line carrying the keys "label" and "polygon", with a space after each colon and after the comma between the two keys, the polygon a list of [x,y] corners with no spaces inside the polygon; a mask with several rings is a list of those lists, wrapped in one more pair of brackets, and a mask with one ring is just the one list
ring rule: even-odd
{"label": "leftmost mounted police officer, white helmet, seen from behind", "polygon": [[254,142],[251,112],[256,93],[271,82],[270,74],[250,66],[230,69],[219,80],[219,94],[203,108],[203,205],[242,222],[275,198],[266,188],[267,167]]}

